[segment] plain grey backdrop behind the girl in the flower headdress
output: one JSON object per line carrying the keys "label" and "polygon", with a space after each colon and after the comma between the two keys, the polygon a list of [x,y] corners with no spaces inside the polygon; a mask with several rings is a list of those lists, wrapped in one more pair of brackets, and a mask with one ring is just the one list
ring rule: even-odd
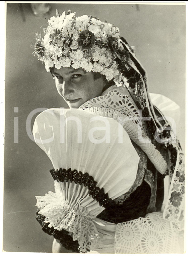
{"label": "plain grey backdrop behind the girl in the flower headdress", "polygon": [[[5,163],[3,250],[51,252],[53,237],[35,220],[36,195],[53,191],[52,164],[26,132],[36,108],[67,107],[30,45],[48,19],[63,11],[97,16],[120,29],[148,74],[149,91],[181,108],[179,139],[185,152],[185,5],[51,4],[51,13],[35,16],[29,3],[7,3]],[[14,113],[14,107],[18,112]],[[39,114],[39,113],[38,113]],[[14,118],[18,117],[18,143]],[[36,115],[32,119],[31,127]]]}

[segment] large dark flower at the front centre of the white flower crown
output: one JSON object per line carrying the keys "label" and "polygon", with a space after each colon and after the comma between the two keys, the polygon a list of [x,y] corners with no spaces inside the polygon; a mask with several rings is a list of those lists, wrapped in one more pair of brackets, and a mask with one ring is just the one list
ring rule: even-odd
{"label": "large dark flower at the front centre of the white flower crown", "polygon": [[83,49],[88,49],[92,46],[94,40],[94,34],[86,29],[80,33],[80,37],[78,38],[78,45],[82,46]]}

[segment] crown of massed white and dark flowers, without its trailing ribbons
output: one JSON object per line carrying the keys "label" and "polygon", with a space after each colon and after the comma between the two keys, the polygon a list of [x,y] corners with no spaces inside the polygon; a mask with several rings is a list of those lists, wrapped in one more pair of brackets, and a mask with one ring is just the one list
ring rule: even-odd
{"label": "crown of massed white and dark flowers, without its trailing ribbons", "polygon": [[46,70],[55,67],[83,68],[99,72],[108,81],[119,83],[128,70],[129,53],[124,49],[119,29],[92,16],[75,17],[65,11],[48,20],[41,33],[36,34],[34,54],[45,64]]}

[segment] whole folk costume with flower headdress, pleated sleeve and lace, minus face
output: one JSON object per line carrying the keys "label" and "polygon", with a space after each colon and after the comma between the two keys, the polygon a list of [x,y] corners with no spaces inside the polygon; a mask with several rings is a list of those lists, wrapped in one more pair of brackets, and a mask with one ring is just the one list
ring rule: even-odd
{"label": "whole folk costume with flower headdress, pleated sleeve and lace, minus face", "polygon": [[[36,143],[54,166],[50,172],[55,193],[37,196],[42,229],[75,252],[183,252],[181,147],[170,119],[162,113],[164,101],[158,104],[162,96],[149,94],[145,70],[119,37],[119,29],[87,15],[75,18],[75,13],[57,13],[44,40],[37,38],[35,53],[47,71],[81,67],[114,81],[79,109],[47,110],[35,121]],[[170,102],[176,111],[177,105]],[[76,116],[85,134],[94,129],[91,118],[101,117],[96,119],[98,126],[108,120],[110,146],[105,141],[94,145],[88,136],[78,145],[76,127],[70,121],[62,143],[61,119]],[[124,128],[123,143],[118,143],[118,125]],[[49,137],[51,141],[46,140]],[[79,154],[83,155],[80,160]],[[164,188],[166,176],[169,182]]]}

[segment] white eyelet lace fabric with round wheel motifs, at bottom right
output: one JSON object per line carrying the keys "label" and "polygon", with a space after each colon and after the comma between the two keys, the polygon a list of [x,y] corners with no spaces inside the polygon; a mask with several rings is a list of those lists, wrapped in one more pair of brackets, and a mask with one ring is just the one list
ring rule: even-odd
{"label": "white eyelet lace fabric with round wheel motifs, at bottom right", "polygon": [[180,253],[178,232],[161,213],[117,224],[115,253]]}

